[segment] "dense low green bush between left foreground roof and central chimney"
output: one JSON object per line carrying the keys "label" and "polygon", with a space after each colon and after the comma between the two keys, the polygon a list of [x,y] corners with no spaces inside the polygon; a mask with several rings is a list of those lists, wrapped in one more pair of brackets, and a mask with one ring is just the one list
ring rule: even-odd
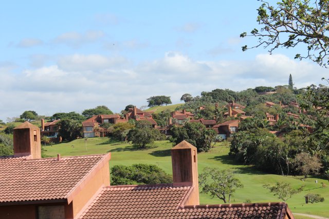
{"label": "dense low green bush between left foreground roof and central chimney", "polygon": [[172,176],[156,165],[115,165],[111,168],[111,185],[172,183]]}

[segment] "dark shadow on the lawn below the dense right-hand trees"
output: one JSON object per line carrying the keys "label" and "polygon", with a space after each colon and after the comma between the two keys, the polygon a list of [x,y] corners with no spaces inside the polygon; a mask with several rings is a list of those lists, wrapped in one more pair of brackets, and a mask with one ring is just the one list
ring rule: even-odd
{"label": "dark shadow on the lawn below the dense right-hand trees", "polygon": [[257,175],[264,175],[266,174],[265,172],[259,171],[256,169],[254,166],[249,166],[249,165],[243,165],[240,162],[237,162],[234,160],[234,157],[229,156],[229,155],[221,155],[221,156],[214,156],[212,158],[215,161],[219,161],[223,164],[231,165],[232,169],[236,173],[240,174],[257,174]]}

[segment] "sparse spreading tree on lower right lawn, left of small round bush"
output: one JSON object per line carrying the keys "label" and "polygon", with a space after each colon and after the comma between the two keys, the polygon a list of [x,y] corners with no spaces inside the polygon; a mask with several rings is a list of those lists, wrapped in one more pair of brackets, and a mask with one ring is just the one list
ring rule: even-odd
{"label": "sparse spreading tree on lower right lawn, left of small round bush", "polygon": [[304,186],[299,187],[298,189],[293,189],[290,183],[277,182],[275,186],[263,185],[264,188],[268,189],[269,192],[273,195],[277,195],[282,201],[287,201],[294,194],[300,193],[303,191]]}

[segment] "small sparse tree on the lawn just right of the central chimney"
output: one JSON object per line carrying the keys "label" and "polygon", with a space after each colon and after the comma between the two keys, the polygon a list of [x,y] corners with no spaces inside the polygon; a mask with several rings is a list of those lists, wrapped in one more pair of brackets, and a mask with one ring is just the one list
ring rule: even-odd
{"label": "small sparse tree on the lawn just right of the central chimney", "polygon": [[[243,188],[242,183],[230,169],[218,170],[206,167],[199,175],[199,186],[202,193],[218,197],[224,203],[231,202],[231,196],[237,188]],[[227,199],[228,198],[228,199]]]}

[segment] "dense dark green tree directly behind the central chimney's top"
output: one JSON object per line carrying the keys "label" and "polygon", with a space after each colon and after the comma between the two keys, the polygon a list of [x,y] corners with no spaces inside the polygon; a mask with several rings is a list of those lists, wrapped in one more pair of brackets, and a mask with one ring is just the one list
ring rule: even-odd
{"label": "dense dark green tree directly behind the central chimney's top", "polygon": [[171,141],[175,145],[185,140],[197,148],[197,151],[210,151],[212,144],[216,141],[216,132],[206,129],[201,123],[186,123],[184,126],[173,126],[171,128]]}

